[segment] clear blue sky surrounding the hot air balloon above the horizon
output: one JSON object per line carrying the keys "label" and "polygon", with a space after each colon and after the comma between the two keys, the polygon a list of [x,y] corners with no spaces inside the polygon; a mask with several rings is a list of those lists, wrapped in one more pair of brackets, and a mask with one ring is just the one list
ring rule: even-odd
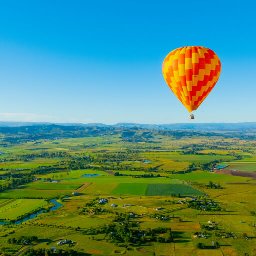
{"label": "clear blue sky surrounding the hot air balloon above the horizon", "polygon": [[197,45],[222,72],[195,122],[256,121],[255,3],[154,2],[2,1],[0,120],[187,123],[161,67]]}

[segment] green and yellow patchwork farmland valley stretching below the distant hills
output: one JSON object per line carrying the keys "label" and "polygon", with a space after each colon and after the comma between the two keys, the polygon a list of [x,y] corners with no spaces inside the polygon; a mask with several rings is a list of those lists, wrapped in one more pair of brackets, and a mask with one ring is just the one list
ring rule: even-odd
{"label": "green and yellow patchwork farmland valley stretching below the distant hills", "polygon": [[[33,249],[74,241],[58,248],[79,255],[254,255],[256,136],[47,125],[4,132],[6,255],[26,249],[12,243],[22,235],[38,237]],[[49,210],[50,200],[61,207]]]}

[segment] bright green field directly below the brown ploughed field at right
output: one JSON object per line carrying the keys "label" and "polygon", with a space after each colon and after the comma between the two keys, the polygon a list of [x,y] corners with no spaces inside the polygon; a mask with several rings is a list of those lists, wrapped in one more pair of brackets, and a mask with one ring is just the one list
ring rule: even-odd
{"label": "bright green field directly below the brown ploughed field at right", "polygon": [[194,171],[186,174],[171,174],[170,177],[190,181],[190,182],[197,182],[202,184],[208,184],[209,181],[212,181],[215,184],[224,184],[224,183],[246,183],[251,178],[247,177],[237,177],[231,175],[224,175],[224,174],[216,174],[213,172],[208,171]]}

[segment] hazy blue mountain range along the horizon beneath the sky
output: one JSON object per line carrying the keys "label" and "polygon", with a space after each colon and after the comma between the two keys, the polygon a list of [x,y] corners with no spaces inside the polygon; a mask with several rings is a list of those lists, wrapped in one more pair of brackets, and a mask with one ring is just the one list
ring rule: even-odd
{"label": "hazy blue mountain range along the horizon beneath the sky", "polygon": [[0,121],[0,127],[23,127],[35,125],[60,125],[60,126],[96,126],[96,127],[140,127],[160,130],[198,130],[198,131],[256,131],[256,122],[241,123],[173,123],[173,124],[140,124],[140,123],[117,123],[107,125],[103,123],[50,123],[50,122],[4,122]]}

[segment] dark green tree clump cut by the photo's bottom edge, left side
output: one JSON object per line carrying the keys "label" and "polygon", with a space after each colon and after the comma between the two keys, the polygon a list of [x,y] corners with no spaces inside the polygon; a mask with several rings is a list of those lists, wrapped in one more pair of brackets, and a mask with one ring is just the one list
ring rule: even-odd
{"label": "dark green tree clump cut by the photo's bottom edge, left side", "polygon": [[24,252],[26,256],[77,256],[78,252],[75,250],[57,249],[55,252],[52,249],[28,249]]}

